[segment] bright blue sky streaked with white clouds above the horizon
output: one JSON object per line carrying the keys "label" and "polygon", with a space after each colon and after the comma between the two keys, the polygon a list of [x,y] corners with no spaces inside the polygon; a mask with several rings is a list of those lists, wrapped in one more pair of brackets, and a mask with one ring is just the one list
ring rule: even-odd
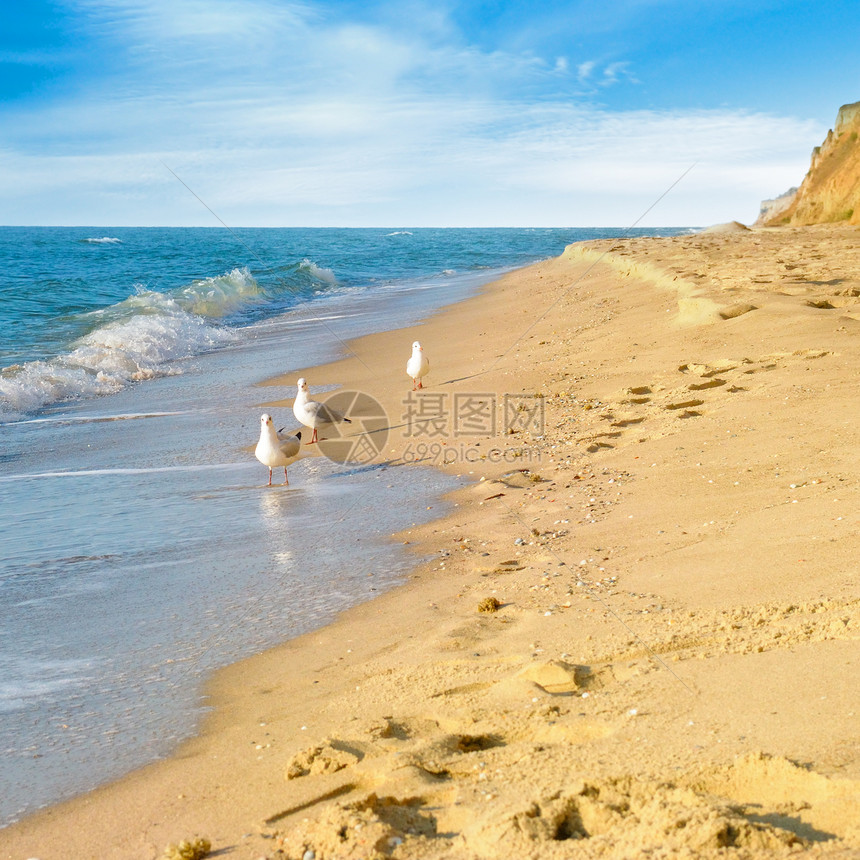
{"label": "bright blue sky streaked with white clouds above the horizon", "polygon": [[11,0],[0,224],[751,223],[860,100],[858,25],[856,0]]}

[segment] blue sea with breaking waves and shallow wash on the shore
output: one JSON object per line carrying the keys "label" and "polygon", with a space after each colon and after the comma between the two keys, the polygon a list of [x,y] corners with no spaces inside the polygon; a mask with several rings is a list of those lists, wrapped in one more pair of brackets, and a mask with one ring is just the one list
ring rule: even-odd
{"label": "blue sea with breaking waves and shallow wash on the shore", "polygon": [[266,486],[295,388],[259,383],[573,242],[685,232],[0,227],[0,827],[170,755],[215,670],[402,582],[391,535],[445,513],[429,468]]}

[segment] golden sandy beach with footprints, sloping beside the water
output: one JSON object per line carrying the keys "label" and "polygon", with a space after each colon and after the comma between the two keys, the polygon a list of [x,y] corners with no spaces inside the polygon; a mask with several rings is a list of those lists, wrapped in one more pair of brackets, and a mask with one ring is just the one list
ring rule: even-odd
{"label": "golden sandy beach with footprints, sloping beside the water", "polygon": [[860,857],[858,296],[857,228],[592,242],[274,380],[276,415],[305,375],[400,424],[417,337],[437,405],[544,426],[394,429],[472,479],[397,536],[410,581],[0,857]]}

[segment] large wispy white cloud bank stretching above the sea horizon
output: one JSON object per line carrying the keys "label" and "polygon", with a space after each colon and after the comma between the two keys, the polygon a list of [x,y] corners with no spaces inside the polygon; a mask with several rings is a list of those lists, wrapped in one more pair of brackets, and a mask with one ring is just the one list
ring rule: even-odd
{"label": "large wispy white cloud bank stretching above the sea horizon", "polygon": [[696,162],[651,223],[713,223],[797,184],[825,131],[527,98],[567,61],[440,44],[439,21],[404,38],[263,0],[79,5],[129,65],[0,114],[0,223],[212,223],[161,161],[236,226],[623,225]]}

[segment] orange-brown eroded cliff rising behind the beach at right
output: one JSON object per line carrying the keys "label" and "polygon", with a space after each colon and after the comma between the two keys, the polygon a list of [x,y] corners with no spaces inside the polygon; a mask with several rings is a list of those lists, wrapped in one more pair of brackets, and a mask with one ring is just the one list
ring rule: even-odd
{"label": "orange-brown eroded cliff rising behind the beach at right", "polygon": [[839,108],[800,188],[777,200],[764,201],[757,225],[860,224],[860,102]]}

